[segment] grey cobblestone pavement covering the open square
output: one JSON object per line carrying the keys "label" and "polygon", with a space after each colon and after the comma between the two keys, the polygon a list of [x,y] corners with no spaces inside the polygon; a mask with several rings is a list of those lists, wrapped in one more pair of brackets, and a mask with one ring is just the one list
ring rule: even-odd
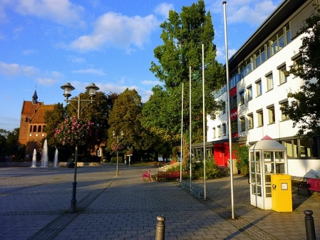
{"label": "grey cobblestone pavement covering the open square", "polygon": [[[0,168],[0,239],[155,239],[157,216],[165,216],[165,239],[306,239],[304,210],[311,209],[320,239],[320,194],[297,196],[294,211],[253,207],[247,179],[143,182],[148,167],[78,167],[77,209],[71,205],[73,169]],[[150,167],[151,174],[158,168]]]}

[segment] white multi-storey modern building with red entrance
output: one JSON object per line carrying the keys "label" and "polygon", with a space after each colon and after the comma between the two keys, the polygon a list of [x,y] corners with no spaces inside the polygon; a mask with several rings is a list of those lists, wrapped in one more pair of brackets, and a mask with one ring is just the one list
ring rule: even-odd
{"label": "white multi-storey modern building with red entrance", "polygon": [[291,102],[287,93],[304,84],[304,80],[291,75],[287,78],[284,71],[301,61],[298,31],[314,9],[313,4],[318,4],[317,0],[282,1],[229,58],[229,96],[227,86],[216,94],[216,100],[226,103],[225,108],[215,120],[207,118],[207,143],[213,145],[217,165],[227,166],[231,124],[232,142],[254,145],[268,135],[287,147],[285,173],[295,177],[320,173],[320,137],[296,138],[297,128],[280,110]]}

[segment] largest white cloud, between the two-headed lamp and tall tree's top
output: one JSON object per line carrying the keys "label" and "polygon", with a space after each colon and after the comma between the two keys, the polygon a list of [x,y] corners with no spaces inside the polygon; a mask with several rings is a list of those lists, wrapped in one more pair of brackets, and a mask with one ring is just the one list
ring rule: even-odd
{"label": "largest white cloud, between the two-headed lamp and tall tree's top", "polygon": [[93,34],[81,36],[70,44],[80,51],[96,50],[108,44],[118,48],[143,47],[150,38],[151,31],[158,27],[154,15],[123,16],[108,12],[96,21]]}

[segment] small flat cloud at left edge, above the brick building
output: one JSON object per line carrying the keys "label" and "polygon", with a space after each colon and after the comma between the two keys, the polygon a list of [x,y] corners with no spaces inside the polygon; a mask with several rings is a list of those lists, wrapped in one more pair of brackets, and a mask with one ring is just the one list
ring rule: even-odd
{"label": "small flat cloud at left edge, above the brick building", "polygon": [[33,66],[22,66],[17,63],[0,62],[0,73],[4,75],[26,75],[31,77],[38,73],[38,68]]}

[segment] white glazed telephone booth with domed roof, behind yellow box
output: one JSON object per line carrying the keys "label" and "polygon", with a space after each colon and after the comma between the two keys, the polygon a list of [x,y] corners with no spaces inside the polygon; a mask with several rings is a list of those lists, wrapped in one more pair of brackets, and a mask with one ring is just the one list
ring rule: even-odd
{"label": "white glazed telephone booth with domed roof, behind yellow box", "polygon": [[272,209],[271,174],[287,174],[287,148],[265,136],[249,148],[250,202],[261,209]]}

